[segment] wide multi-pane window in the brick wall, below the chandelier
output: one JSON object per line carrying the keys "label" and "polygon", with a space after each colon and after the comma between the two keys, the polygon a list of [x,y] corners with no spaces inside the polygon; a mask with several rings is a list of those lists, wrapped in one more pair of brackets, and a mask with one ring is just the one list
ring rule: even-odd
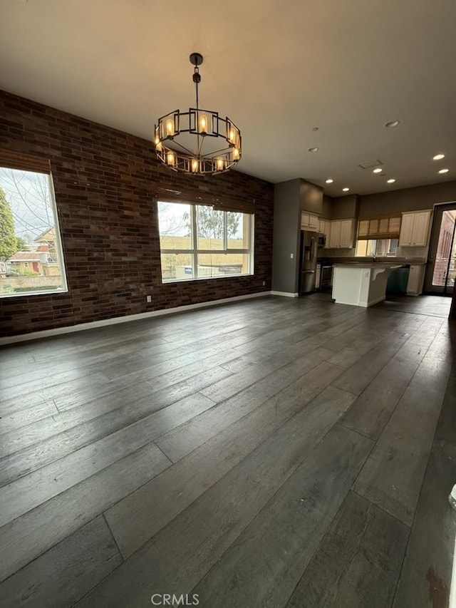
{"label": "wide multi-pane window in the brick wall, below the chandelier", "polygon": [[163,282],[253,274],[253,215],[177,202],[157,206]]}

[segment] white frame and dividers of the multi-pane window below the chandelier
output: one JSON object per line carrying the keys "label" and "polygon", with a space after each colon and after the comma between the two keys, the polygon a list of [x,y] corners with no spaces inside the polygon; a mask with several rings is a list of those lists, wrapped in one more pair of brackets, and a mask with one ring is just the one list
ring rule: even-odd
{"label": "white frame and dividers of the multi-pane window below the chandelier", "polygon": [[[198,205],[197,203],[187,202],[185,200],[180,201],[171,201],[171,200],[157,200],[157,217],[158,217],[158,237],[160,242],[160,211],[159,205],[160,202],[165,202],[170,205],[188,205],[190,207],[190,243],[191,247],[189,249],[162,249],[160,244],[160,274],[162,285],[170,284],[170,283],[182,283],[187,281],[204,281],[210,279],[229,279],[232,277],[252,277],[254,275],[254,229],[255,229],[255,217],[254,213],[246,213],[242,211],[231,211],[231,210],[215,210],[217,212],[224,213],[224,234],[223,234],[223,249],[198,249],[198,226],[197,226],[197,207],[210,207],[210,205]],[[243,217],[248,217],[249,227],[247,229],[249,235],[249,247],[246,248],[232,248],[228,247],[228,228],[227,228],[227,214],[228,213],[241,213]],[[183,279],[164,279],[163,271],[162,271],[162,255],[167,254],[185,254],[190,255],[192,257],[192,273],[196,276],[191,278],[185,277]],[[239,254],[239,255],[248,255],[249,256],[249,272],[242,272],[239,274],[220,274],[214,277],[198,277],[198,256],[199,255],[227,255],[227,254]]]}

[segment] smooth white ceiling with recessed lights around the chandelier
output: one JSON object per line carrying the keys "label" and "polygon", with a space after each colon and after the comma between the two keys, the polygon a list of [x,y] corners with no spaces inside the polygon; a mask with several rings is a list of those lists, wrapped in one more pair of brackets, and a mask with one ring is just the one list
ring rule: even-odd
{"label": "smooth white ceiling with recessed lights around the chandelier", "polygon": [[[455,0],[0,0],[0,11],[6,91],[151,140],[158,116],[194,105],[198,51],[201,105],[241,129],[243,172],[333,196],[455,179]],[[385,176],[358,167],[376,159]]]}

